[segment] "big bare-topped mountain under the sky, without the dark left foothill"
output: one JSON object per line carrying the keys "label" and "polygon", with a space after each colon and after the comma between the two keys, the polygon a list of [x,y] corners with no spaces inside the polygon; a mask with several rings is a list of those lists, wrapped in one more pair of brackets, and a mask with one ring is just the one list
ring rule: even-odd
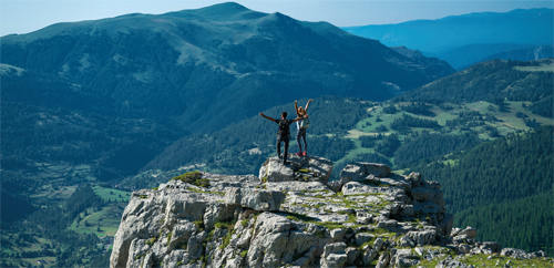
{"label": "big bare-topped mountain under the sky, without the dark left foothill", "polygon": [[2,63],[214,131],[302,96],[387,100],[453,73],[321,22],[237,3],[59,23],[7,35]]}

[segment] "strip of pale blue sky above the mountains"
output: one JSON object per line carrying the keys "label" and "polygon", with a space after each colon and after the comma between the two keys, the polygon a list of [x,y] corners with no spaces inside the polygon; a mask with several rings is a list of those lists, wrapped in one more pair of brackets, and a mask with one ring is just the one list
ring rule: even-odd
{"label": "strip of pale blue sky above the mountains", "polygon": [[[57,22],[96,20],[135,12],[160,14],[219,2],[226,1],[0,0],[0,37],[32,32]],[[281,12],[297,20],[327,21],[338,27],[389,24],[418,19],[433,20],[471,12],[554,8],[552,0],[237,0],[236,2],[256,11]]]}

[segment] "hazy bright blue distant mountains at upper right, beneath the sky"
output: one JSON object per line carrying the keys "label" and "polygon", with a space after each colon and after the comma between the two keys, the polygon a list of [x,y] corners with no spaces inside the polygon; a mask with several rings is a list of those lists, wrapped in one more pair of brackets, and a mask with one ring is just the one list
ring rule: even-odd
{"label": "hazy bright blue distant mountains at upper right, beneath the sky", "polygon": [[460,70],[496,53],[552,45],[553,13],[552,9],[519,9],[506,13],[481,12],[439,20],[342,29],[377,39],[388,47],[404,45],[422,51]]}

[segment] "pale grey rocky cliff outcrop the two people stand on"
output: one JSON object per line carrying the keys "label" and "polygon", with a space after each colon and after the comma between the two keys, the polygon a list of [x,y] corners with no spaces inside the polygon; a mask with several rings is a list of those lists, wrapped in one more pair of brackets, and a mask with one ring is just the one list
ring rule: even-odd
{"label": "pale grey rocky cliff outcrop the two people stand on", "polygon": [[409,267],[433,259],[471,267],[453,256],[545,257],[453,228],[441,185],[418,173],[357,162],[328,182],[330,161],[289,161],[268,158],[259,177],[193,172],[134,192],[111,267]]}

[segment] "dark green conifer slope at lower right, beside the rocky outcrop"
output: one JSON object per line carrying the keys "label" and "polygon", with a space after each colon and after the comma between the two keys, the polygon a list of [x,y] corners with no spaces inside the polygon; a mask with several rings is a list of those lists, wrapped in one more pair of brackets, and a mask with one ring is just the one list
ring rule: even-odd
{"label": "dark green conifer slope at lower right, beside the rocky outcrop", "polygon": [[541,126],[410,169],[443,185],[459,225],[486,225],[482,238],[553,254],[552,228],[542,227],[552,226],[553,141],[554,127]]}

